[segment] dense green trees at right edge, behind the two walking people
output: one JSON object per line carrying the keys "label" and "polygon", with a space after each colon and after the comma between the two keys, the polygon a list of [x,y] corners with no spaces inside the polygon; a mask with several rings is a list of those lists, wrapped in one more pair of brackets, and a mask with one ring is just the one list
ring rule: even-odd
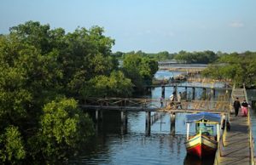
{"label": "dense green trees at right edge, behind the two walking people", "polygon": [[[219,64],[219,65],[216,65]],[[204,76],[216,79],[231,79],[232,82],[247,87],[256,85],[256,53],[223,54],[215,65],[210,65],[203,71]]]}

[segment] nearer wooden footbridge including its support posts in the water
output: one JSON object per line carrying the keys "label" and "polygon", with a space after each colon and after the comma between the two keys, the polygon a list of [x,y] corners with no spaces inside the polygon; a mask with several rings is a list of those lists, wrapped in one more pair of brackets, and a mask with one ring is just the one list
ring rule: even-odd
{"label": "nearer wooden footbridge including its support posts in the water", "polygon": [[[131,99],[131,98],[87,98],[80,100],[80,107],[86,111],[95,111],[95,120],[101,121],[103,111],[119,111],[120,121],[127,124],[127,111],[144,111],[146,134],[150,134],[151,125],[161,119],[166,114],[170,114],[171,131],[175,132],[175,115],[176,113],[196,113],[201,111],[209,111],[213,113],[228,114],[230,112],[230,102],[224,101],[225,98],[220,97],[218,101],[211,100],[192,100],[181,103],[164,100],[160,104],[160,100],[156,99]],[[122,128],[123,129],[123,128]]]}

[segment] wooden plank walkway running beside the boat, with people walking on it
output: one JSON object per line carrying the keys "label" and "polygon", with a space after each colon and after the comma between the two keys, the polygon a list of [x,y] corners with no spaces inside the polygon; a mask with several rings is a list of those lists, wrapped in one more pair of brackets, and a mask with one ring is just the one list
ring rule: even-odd
{"label": "wooden plank walkway running beside the boat, with people walking on it", "polygon": [[[232,98],[236,99],[236,97],[244,100],[246,98],[245,90],[243,88],[233,89]],[[241,110],[238,117],[230,115],[230,131],[224,131],[219,143],[221,144],[218,145],[214,164],[251,164],[248,117],[242,117]]]}

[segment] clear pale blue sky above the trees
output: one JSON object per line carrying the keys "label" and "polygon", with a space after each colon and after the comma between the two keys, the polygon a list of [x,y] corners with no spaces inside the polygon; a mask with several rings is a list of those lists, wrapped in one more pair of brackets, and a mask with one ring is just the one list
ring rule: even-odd
{"label": "clear pale blue sky above the trees", "polygon": [[0,33],[28,20],[104,28],[113,52],[256,51],[255,0],[0,0]]}

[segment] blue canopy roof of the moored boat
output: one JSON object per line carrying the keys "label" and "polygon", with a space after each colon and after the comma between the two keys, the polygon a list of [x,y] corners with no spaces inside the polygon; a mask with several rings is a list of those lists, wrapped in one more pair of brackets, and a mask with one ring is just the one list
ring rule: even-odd
{"label": "blue canopy roof of the moored boat", "polygon": [[219,114],[214,114],[210,112],[200,112],[196,114],[191,114],[186,116],[186,122],[198,122],[202,120],[207,120],[210,122],[221,122],[221,117]]}

